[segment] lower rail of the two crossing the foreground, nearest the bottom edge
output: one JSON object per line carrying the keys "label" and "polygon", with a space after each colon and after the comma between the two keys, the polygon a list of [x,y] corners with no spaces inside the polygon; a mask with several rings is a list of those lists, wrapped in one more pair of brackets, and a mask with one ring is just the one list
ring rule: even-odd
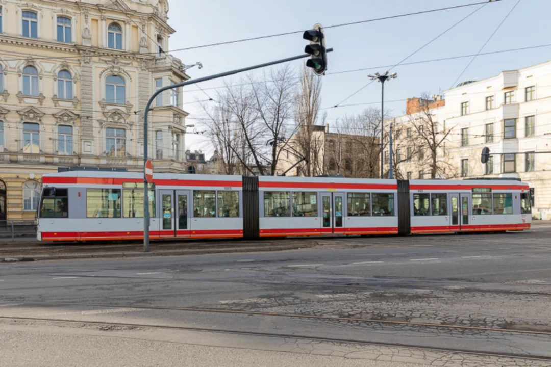
{"label": "lower rail of the two crossing the foreground, nearest the bottom edge", "polygon": [[[254,336],[254,337],[276,337],[276,338],[292,338],[292,339],[307,339],[311,341],[330,342],[330,343],[343,343],[343,344],[355,344],[359,346],[381,346],[381,347],[402,347],[402,348],[415,348],[426,351],[438,351],[438,352],[452,352],[452,353],[468,353],[472,355],[480,355],[485,357],[495,358],[522,358],[533,361],[551,361],[551,357],[546,355],[533,355],[533,354],[515,354],[515,353],[501,353],[501,352],[487,352],[484,350],[471,350],[463,348],[442,348],[433,346],[422,346],[418,344],[410,343],[392,343],[392,342],[377,342],[359,339],[348,338],[329,338],[320,336],[300,335],[297,333],[267,333],[267,332],[255,332],[255,331],[242,331],[242,330],[220,330],[214,328],[204,327],[188,327],[188,326],[170,326],[170,325],[151,325],[151,324],[138,324],[130,322],[107,322],[107,321],[88,321],[88,320],[67,320],[67,319],[53,319],[47,317],[18,317],[18,316],[0,316],[0,320],[3,321],[16,321],[16,322],[48,322],[54,324],[66,324],[66,325],[89,325],[100,327],[100,330],[110,331],[113,327],[127,327],[128,331],[133,329],[156,329],[156,330],[172,330],[172,331],[196,331],[196,332],[208,332],[218,334],[229,335],[242,335],[242,336]],[[193,343],[190,343],[193,344]]]}

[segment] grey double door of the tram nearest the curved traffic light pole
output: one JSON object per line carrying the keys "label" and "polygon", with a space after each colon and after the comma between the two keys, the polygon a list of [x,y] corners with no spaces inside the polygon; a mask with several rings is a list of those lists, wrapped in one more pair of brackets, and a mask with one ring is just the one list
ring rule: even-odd
{"label": "grey double door of the tram nearest the curved traffic light pole", "polygon": [[189,237],[190,191],[159,190],[161,237]]}

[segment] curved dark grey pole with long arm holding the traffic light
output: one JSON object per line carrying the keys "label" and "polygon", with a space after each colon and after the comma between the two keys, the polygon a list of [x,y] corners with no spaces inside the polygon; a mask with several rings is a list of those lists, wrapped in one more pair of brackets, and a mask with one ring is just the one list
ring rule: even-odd
{"label": "curved dark grey pole with long arm holding the traffic light", "polygon": [[[333,51],[333,48],[329,48],[327,50],[327,52],[332,52],[332,51]],[[202,81],[223,78],[224,76],[229,76],[229,75],[239,74],[239,73],[243,73],[243,72],[248,72],[249,70],[265,68],[267,66],[282,64],[282,63],[285,63],[285,62],[294,61],[294,60],[298,60],[298,59],[302,59],[302,58],[306,58],[306,57],[310,57],[310,56],[311,56],[310,54],[305,53],[305,54],[301,54],[301,55],[298,55],[298,56],[293,56],[293,57],[280,59],[280,60],[277,60],[277,61],[271,61],[271,62],[267,62],[267,63],[263,63],[263,64],[253,65],[253,66],[250,66],[250,67],[247,67],[247,68],[231,70],[230,72],[214,74],[214,75],[210,75],[210,76],[205,76],[204,78],[188,80],[188,81],[184,81],[182,83],[168,85],[168,86],[162,87],[161,89],[155,91],[155,93],[151,97],[149,97],[149,101],[147,102],[147,105],[145,106],[145,112],[144,112],[144,118],[143,118],[143,141],[144,141],[144,143],[143,143],[143,250],[146,253],[149,252],[149,192],[148,192],[149,184],[147,182],[147,179],[145,179],[145,163],[147,162],[147,155],[148,155],[148,151],[147,151],[148,150],[147,149],[147,147],[148,147],[147,146],[148,145],[148,137],[147,137],[147,131],[148,131],[147,123],[148,123],[148,121],[147,121],[147,117],[148,117],[149,111],[151,109],[151,104],[155,100],[155,97],[158,96],[159,94],[161,94],[162,92],[166,91],[166,90],[175,89],[175,88],[179,88],[179,87],[187,86],[187,85],[192,85],[192,84],[196,84],[196,83],[201,83]]]}

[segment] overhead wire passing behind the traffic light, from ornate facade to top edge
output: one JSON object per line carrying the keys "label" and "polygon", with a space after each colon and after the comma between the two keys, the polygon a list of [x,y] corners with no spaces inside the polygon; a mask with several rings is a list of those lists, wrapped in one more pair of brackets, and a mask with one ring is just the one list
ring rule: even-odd
{"label": "overhead wire passing behind the traffic light, from ornate facade to top edge", "polygon": [[[324,28],[324,29],[339,28],[339,27],[344,27],[344,26],[349,26],[349,25],[371,23],[371,22],[374,22],[374,21],[381,21],[381,20],[388,20],[388,19],[396,19],[396,18],[404,18],[404,17],[413,16],[413,15],[429,14],[429,13],[435,13],[435,12],[443,12],[443,11],[445,11],[445,10],[460,9],[460,8],[472,7],[472,6],[476,6],[476,5],[480,5],[480,4],[486,4],[486,3],[488,3],[488,2],[496,3],[496,2],[499,2],[499,1],[503,1],[503,0],[490,0],[490,1],[485,0],[485,1],[478,1],[478,2],[475,2],[475,3],[462,4],[462,5],[457,5],[457,6],[445,7],[445,8],[421,10],[420,12],[405,13],[405,14],[397,14],[397,15],[389,15],[388,17],[380,17],[380,18],[373,18],[373,19],[366,19],[366,20],[353,21],[353,22],[349,22],[349,23],[334,24],[334,25],[329,25],[329,26],[323,27],[323,28]],[[191,47],[184,47],[184,48],[176,48],[176,49],[174,49],[174,50],[168,50],[168,51],[166,51],[166,52],[188,51],[188,50],[197,50],[198,48],[206,48],[206,47],[230,45],[230,44],[233,44],[233,43],[240,43],[240,42],[246,42],[246,41],[255,41],[255,40],[262,40],[262,39],[267,39],[267,38],[272,38],[272,37],[279,37],[279,36],[287,36],[287,35],[292,35],[292,34],[299,34],[299,33],[302,33],[302,32],[304,32],[304,31],[305,31],[305,30],[303,29],[303,30],[299,30],[299,31],[282,32],[282,33],[277,33],[277,34],[272,34],[272,35],[258,36],[258,37],[250,37],[250,38],[240,39],[240,40],[225,41],[225,42],[217,42],[217,43],[208,43],[208,44],[206,44],[206,45],[191,46]],[[131,54],[144,55],[144,54],[155,54],[155,53],[156,53],[156,52],[144,52],[144,53],[141,53],[141,52],[120,52],[120,53],[119,53],[119,52],[117,52],[117,53],[113,53],[113,54],[114,54],[114,55],[117,55],[117,56],[128,56],[128,55],[131,55]],[[105,55],[104,55],[104,56],[105,56]],[[63,56],[63,57],[35,57],[35,58],[30,58],[30,59],[33,60],[33,61],[35,61],[35,60],[39,60],[39,59],[58,59],[58,58],[66,59],[66,58],[80,58],[80,57],[82,57],[82,56],[79,55],[79,56]],[[27,60],[27,59],[29,59],[29,58],[24,57],[24,58],[17,58],[17,59],[5,59],[4,61],[22,61],[22,60]]]}

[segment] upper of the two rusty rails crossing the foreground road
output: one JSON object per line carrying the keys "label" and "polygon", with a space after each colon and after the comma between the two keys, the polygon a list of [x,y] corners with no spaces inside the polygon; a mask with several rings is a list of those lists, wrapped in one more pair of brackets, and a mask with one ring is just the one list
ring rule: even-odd
{"label": "upper of the two rusty rails crossing the foreground road", "polygon": [[[97,308],[122,308],[132,310],[151,310],[151,311],[186,311],[197,313],[218,313],[218,314],[234,314],[234,315],[253,315],[253,316],[271,316],[271,317],[290,317],[297,319],[311,319],[311,320],[324,320],[324,321],[348,321],[348,322],[363,322],[365,324],[382,324],[382,325],[407,325],[418,327],[430,327],[430,328],[445,328],[448,330],[467,330],[467,331],[489,331],[500,333],[515,333],[515,334],[532,334],[543,335],[551,337],[551,332],[548,331],[534,331],[534,330],[517,330],[507,328],[495,328],[495,327],[481,327],[481,326],[463,326],[463,325],[451,325],[451,324],[434,324],[430,322],[412,322],[412,321],[396,321],[396,320],[377,320],[377,319],[363,319],[360,317],[342,317],[342,316],[320,316],[320,315],[308,315],[308,314],[292,314],[292,313],[269,313],[262,311],[246,311],[246,310],[229,310],[229,309],[215,309],[215,308],[196,308],[196,307],[159,307],[159,306],[135,306],[135,305],[117,305],[117,304],[96,304],[96,303],[69,303],[69,302],[18,302],[17,300],[2,301],[4,305],[6,302],[10,302],[9,305],[57,305],[57,306],[80,306],[80,307],[97,307]],[[2,306],[2,303],[0,303]],[[0,308],[1,310],[1,308]],[[0,319],[10,318],[10,316],[0,316]],[[57,320],[57,319],[52,319]]]}

